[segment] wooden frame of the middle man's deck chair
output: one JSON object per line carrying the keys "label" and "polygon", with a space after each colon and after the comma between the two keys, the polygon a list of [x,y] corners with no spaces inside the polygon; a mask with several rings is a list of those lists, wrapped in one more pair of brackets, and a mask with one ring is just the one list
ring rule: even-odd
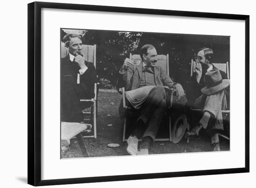
{"label": "wooden frame of the middle man's deck chair", "polygon": [[[167,71],[166,73],[169,75],[169,55],[168,54],[167,55],[158,55],[158,57],[159,56],[166,56],[166,66],[165,66],[164,70],[166,70]],[[136,63],[136,61],[141,61],[140,55],[137,55],[137,54],[132,55],[130,53],[130,59],[134,60],[135,63]],[[126,106],[126,102],[125,102],[125,88],[121,88],[121,89],[122,89],[123,107],[128,109],[128,107]],[[172,101],[173,101],[173,93],[170,94],[170,107],[172,106]],[[122,141],[125,142],[125,141],[127,141],[127,139],[125,139],[126,128],[127,128],[127,126],[126,126],[126,124],[127,124],[127,117],[124,118],[123,124],[124,124],[124,126],[123,126],[123,138],[122,138]],[[156,138],[155,141],[172,141],[172,137],[171,137],[171,135],[172,135],[172,126],[171,126],[171,115],[170,114],[168,115],[168,124],[169,124],[169,138]],[[141,139],[139,139],[139,141],[141,141]]]}

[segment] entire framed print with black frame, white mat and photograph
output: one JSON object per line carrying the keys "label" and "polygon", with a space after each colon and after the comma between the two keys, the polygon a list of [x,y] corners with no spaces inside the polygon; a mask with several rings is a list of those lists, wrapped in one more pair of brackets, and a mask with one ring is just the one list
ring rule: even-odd
{"label": "entire framed print with black frame, white mat and photograph", "polygon": [[29,184],[241,172],[248,15],[28,4]]}

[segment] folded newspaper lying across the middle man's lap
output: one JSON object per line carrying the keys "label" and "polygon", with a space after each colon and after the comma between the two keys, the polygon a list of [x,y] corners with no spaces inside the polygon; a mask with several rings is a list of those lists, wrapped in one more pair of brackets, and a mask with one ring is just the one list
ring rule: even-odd
{"label": "folded newspaper lying across the middle man's lap", "polygon": [[[125,92],[126,98],[131,103],[135,109],[139,109],[145,100],[148,98],[149,92],[155,88],[155,86],[145,86],[142,88],[137,88]],[[172,90],[168,86],[164,87],[167,91],[171,92]]]}

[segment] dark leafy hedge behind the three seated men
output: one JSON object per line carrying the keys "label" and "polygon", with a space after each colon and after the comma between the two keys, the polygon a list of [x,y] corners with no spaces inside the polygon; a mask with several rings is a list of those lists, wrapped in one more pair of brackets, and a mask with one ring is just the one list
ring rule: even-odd
{"label": "dark leafy hedge behind the three seated men", "polygon": [[190,77],[191,59],[200,48],[214,51],[214,63],[229,62],[229,36],[62,29],[61,38],[72,31],[81,34],[83,44],[97,45],[97,74],[113,86],[124,59],[129,53],[138,54],[144,44],[153,44],[158,54],[169,54],[170,76],[184,88]]}

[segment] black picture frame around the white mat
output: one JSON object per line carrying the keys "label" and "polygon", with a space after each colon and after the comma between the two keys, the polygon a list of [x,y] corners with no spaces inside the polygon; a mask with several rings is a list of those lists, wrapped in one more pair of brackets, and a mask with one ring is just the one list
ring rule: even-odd
{"label": "black picture frame around the white mat", "polygon": [[[115,175],[41,180],[41,9],[72,9],[114,13],[140,13],[151,15],[184,16],[245,21],[245,164],[243,168],[196,170],[153,174]],[[34,186],[110,182],[195,175],[216,175],[249,172],[249,15],[200,13],[130,7],[94,6],[49,2],[28,4],[28,184]]]}

